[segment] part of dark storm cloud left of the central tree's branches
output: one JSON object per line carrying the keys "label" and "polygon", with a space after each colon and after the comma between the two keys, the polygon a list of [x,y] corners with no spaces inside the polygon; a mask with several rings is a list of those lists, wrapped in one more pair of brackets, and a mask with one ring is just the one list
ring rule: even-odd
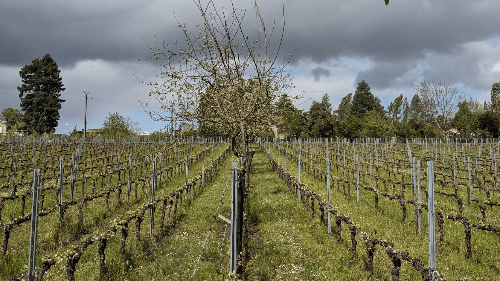
{"label": "part of dark storm cloud left of the central tree's branches", "polygon": [[[144,39],[177,34],[173,9],[164,1],[3,1],[0,63],[26,64],[50,53],[60,66],[82,59],[130,61],[149,54]],[[192,4],[189,3],[192,7]],[[167,34],[167,35],[169,35]],[[171,36],[165,36],[171,37]],[[173,41],[173,39],[172,39]]]}

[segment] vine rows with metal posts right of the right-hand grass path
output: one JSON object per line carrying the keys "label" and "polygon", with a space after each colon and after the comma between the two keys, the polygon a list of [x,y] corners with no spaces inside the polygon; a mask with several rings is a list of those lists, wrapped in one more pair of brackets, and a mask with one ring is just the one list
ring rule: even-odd
{"label": "vine rows with metal posts right of the right-hand grass path", "polygon": [[[330,217],[332,236],[349,241],[367,271],[375,273],[381,263],[378,270],[390,272],[392,280],[427,280],[436,269],[441,280],[471,273],[498,279],[498,142],[430,141],[263,142],[261,148],[311,217]],[[430,195],[425,161],[433,161]],[[430,267],[428,197],[439,235]],[[390,269],[382,269],[387,264]]]}

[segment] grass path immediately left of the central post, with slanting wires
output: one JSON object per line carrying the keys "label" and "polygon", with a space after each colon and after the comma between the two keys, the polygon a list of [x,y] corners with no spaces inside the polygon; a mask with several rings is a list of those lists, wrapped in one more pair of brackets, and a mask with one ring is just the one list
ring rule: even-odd
{"label": "grass path immediately left of the central post, with slanting wires", "polygon": [[[231,200],[231,182],[228,179],[232,161],[237,161],[237,158],[229,151],[215,177],[200,190],[196,190],[201,193],[189,201],[187,207],[180,209],[179,215],[183,218],[149,256],[149,263],[137,276],[134,276],[134,280],[189,280],[210,227],[211,231],[193,280],[215,278],[226,222],[218,217],[214,220],[213,216],[222,214],[227,217]],[[216,211],[223,190],[223,203]],[[220,255],[222,261],[219,265],[220,272],[225,275],[228,264],[229,229],[230,225],[227,226],[224,248]],[[218,274],[216,279],[224,278],[224,275]]]}

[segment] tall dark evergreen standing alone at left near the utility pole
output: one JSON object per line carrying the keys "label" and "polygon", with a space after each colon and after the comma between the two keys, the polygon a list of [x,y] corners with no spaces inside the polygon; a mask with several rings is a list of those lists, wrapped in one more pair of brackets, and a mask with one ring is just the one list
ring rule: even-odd
{"label": "tall dark evergreen standing alone at left near the utility pole", "polygon": [[19,71],[22,85],[17,90],[28,133],[50,132],[57,126],[61,103],[66,101],[59,98],[59,92],[65,90],[59,73],[57,63],[48,53]]}

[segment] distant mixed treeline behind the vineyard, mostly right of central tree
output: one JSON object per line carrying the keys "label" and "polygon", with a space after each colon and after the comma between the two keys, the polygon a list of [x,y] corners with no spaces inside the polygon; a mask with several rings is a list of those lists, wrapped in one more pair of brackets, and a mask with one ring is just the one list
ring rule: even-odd
{"label": "distant mixed treeline behind the vineyard, mostly right of central tree", "polygon": [[[499,92],[500,82],[494,83],[491,102],[480,103],[471,97],[467,101],[453,84],[421,81],[410,101],[400,94],[384,110],[362,80],[336,110],[327,94],[305,112],[281,96],[273,108],[274,123],[262,136],[274,136],[274,127],[280,137],[498,137]],[[223,130],[199,125],[197,134],[223,134]]]}

